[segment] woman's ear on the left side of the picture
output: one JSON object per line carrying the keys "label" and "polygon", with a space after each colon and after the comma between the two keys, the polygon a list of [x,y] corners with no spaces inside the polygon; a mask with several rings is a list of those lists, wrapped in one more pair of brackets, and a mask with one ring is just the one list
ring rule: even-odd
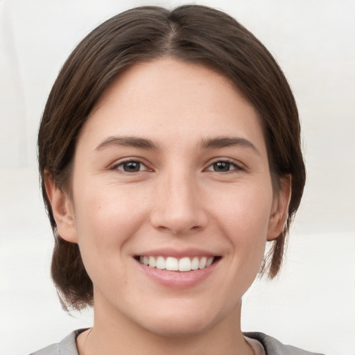
{"label": "woman's ear on the left side of the picture", "polygon": [[53,181],[49,173],[45,174],[44,185],[51,203],[51,208],[58,234],[65,241],[78,243],[73,202],[66,192],[63,192]]}

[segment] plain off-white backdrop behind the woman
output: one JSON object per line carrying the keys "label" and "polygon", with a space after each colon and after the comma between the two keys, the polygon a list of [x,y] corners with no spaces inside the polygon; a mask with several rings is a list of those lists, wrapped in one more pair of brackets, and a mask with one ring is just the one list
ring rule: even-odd
{"label": "plain off-white backdrop behind the woman", "polygon": [[[38,189],[36,135],[69,53],[122,10],[187,1],[0,0],[0,354],[29,354],[90,327],[49,277],[53,238]],[[299,105],[308,180],[278,279],[253,284],[244,331],[355,354],[355,1],[196,1],[229,12],[284,69]]]}

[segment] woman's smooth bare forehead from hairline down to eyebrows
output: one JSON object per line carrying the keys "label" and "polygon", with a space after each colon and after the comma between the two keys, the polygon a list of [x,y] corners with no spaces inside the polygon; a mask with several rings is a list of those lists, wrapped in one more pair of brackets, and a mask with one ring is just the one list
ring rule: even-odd
{"label": "woman's smooth bare forehead from hairline down to eyebrows", "polygon": [[239,135],[263,145],[259,115],[230,79],[173,58],[136,64],[116,78],[83,128],[89,134],[181,143]]}

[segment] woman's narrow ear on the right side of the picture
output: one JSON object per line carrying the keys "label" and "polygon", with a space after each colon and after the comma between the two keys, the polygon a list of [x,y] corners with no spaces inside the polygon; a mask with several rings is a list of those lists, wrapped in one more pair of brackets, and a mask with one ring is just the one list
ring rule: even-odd
{"label": "woman's narrow ear on the right side of the picture", "polygon": [[288,205],[291,200],[291,175],[286,175],[281,180],[279,190],[275,192],[272,212],[268,227],[268,241],[273,241],[284,230],[288,217]]}

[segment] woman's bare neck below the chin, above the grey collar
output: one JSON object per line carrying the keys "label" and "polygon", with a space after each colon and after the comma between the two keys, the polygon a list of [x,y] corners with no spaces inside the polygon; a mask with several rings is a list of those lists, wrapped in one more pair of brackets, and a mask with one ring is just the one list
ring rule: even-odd
{"label": "woman's bare neck below the chin, above the grey collar", "polygon": [[86,331],[78,337],[80,355],[253,354],[241,332],[241,302],[223,320],[189,334],[157,334],[121,313],[108,317],[102,306],[95,306],[94,314],[90,333]]}

